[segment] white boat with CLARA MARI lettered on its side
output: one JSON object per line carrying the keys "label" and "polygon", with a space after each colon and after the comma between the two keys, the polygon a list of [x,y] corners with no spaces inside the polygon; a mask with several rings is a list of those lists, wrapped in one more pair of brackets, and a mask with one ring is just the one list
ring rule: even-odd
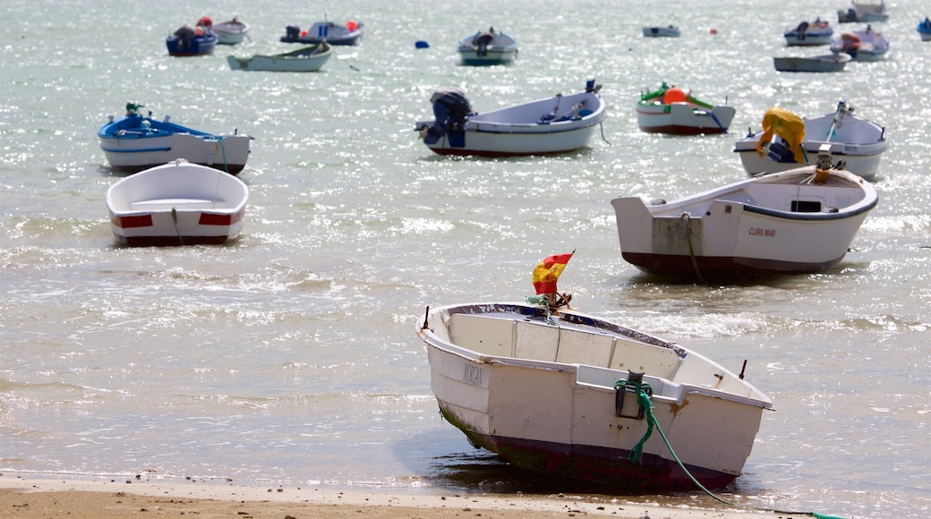
{"label": "white boat with CLARA MARI lettered on its side", "polygon": [[[825,148],[830,144],[825,144]],[[650,205],[612,201],[624,260],[646,273],[715,283],[820,273],[841,260],[876,206],[869,181],[803,166]]]}

